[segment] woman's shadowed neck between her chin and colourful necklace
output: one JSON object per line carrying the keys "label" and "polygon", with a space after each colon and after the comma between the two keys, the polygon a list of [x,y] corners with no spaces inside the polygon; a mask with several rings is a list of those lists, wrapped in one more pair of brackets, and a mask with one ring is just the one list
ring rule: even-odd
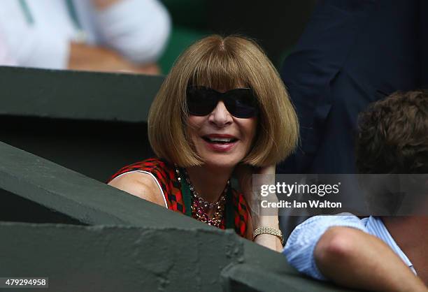
{"label": "woman's shadowed neck between her chin and colourful necklace", "polygon": [[208,166],[192,166],[186,168],[190,182],[199,196],[215,203],[226,187],[227,180],[233,173],[233,168],[210,168]]}

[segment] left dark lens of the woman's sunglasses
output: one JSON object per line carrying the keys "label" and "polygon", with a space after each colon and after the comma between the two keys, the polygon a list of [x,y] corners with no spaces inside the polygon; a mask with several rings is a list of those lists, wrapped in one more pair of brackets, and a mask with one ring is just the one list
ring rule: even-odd
{"label": "left dark lens of the woman's sunglasses", "polygon": [[187,107],[191,115],[209,115],[217,105],[215,92],[204,88],[187,89]]}

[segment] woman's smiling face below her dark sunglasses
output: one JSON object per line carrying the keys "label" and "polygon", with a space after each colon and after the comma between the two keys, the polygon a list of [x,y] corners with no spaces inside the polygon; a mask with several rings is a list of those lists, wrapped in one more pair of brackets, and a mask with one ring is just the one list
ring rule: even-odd
{"label": "woman's smiling face below her dark sunglasses", "polygon": [[220,168],[234,168],[242,161],[250,151],[256,129],[257,117],[234,117],[223,101],[208,115],[190,115],[187,124],[197,154],[206,165]]}

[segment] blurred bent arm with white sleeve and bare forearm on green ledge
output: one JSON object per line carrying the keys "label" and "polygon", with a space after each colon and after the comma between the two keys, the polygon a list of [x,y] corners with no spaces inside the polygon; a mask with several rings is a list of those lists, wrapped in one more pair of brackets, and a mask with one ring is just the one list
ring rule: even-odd
{"label": "blurred bent arm with white sleeve and bare forearm on green ledge", "polygon": [[[114,50],[73,43],[69,34],[57,27],[59,24],[46,25],[50,18],[38,18],[29,23],[18,1],[4,1],[0,8],[0,29],[17,66],[159,73],[155,64],[136,66]],[[46,11],[52,13],[48,8]]]}

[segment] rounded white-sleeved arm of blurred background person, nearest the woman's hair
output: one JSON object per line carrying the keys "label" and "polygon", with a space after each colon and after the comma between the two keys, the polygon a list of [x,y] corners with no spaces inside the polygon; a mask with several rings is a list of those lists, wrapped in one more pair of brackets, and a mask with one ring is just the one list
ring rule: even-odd
{"label": "rounded white-sleeved arm of blurred background person, nearest the woman's hair", "polygon": [[171,31],[171,19],[157,0],[92,0],[95,23],[109,48],[134,64],[155,64]]}

